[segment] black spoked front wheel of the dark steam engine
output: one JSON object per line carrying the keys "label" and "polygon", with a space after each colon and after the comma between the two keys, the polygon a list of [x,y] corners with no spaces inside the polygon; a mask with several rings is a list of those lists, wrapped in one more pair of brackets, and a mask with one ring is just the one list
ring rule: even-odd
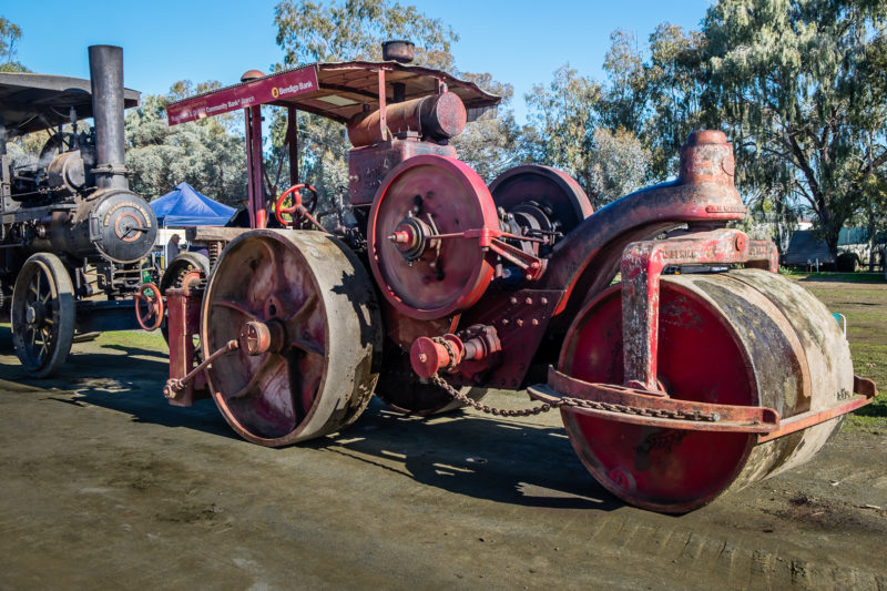
{"label": "black spoked front wheel of the dark steam engine", "polygon": [[74,289],[58,256],[26,261],[12,292],[12,344],[22,367],[45,377],[61,367],[74,336]]}

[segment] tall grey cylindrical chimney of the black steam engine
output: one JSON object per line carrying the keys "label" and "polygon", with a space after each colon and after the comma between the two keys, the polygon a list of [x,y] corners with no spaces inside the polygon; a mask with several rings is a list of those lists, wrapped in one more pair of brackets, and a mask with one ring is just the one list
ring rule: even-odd
{"label": "tall grey cylindrical chimney of the black steam engine", "polygon": [[130,188],[123,139],[123,49],[90,47],[92,116],[95,120],[95,164],[99,188]]}

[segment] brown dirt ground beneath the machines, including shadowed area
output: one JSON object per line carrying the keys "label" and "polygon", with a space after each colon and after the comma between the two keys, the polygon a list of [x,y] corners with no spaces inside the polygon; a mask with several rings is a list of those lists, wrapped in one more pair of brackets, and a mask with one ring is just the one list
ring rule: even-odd
{"label": "brown dirt ground beneath the machines, including shadowed area", "polygon": [[374,403],[340,435],[266,449],[211,401],[167,407],[165,377],[157,337],[106,334],[27,379],[0,327],[0,589],[887,589],[883,420],[669,517],[597,485],[557,414]]}

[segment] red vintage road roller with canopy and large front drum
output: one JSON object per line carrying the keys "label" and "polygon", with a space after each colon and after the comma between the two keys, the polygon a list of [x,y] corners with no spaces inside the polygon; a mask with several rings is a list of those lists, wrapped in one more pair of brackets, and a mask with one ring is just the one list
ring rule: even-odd
{"label": "red vintage road roller with canopy and large front drum", "polygon": [[[254,226],[190,236],[212,271],[165,289],[171,404],[210,396],[245,439],[285,446],[347,427],[374,393],[429,415],[528,388],[604,487],[683,512],[807,460],[876,395],[775,246],[726,227],[745,208],[723,133],[690,136],[677,180],[592,212],[554,169],[487,186],[457,160],[448,140],[499,101],[472,83],[388,58],[252,74],[167,111],[244,109]],[[320,224],[295,157],[268,210],[263,103],[289,110],[292,156],[297,110],[347,125],[353,218]]]}

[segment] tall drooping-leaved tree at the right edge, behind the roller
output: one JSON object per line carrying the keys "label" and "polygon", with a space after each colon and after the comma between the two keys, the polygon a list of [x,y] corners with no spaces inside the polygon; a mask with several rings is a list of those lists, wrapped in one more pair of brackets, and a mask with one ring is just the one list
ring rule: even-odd
{"label": "tall drooping-leaved tree at the right edge, behind the roller", "polygon": [[731,130],[737,181],[804,203],[833,253],[887,162],[883,110],[858,100],[885,19],[867,0],[721,0],[703,23],[702,101]]}

